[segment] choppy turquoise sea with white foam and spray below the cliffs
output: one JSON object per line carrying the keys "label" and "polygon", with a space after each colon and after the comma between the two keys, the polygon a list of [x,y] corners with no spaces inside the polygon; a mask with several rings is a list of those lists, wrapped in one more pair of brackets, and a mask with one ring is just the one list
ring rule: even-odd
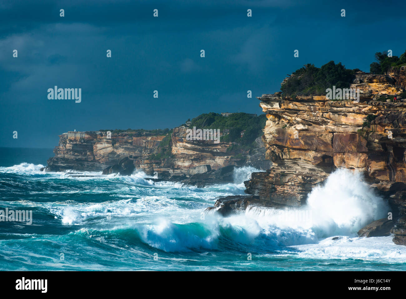
{"label": "choppy turquoise sea with white foam and spray below the cliffs", "polygon": [[0,221],[0,270],[406,270],[391,236],[357,237],[389,208],[356,173],[336,171],[300,210],[224,218],[204,210],[244,194],[258,170],[196,188],[142,172],[40,171],[51,155],[0,148],[0,211],[32,211],[31,224]]}

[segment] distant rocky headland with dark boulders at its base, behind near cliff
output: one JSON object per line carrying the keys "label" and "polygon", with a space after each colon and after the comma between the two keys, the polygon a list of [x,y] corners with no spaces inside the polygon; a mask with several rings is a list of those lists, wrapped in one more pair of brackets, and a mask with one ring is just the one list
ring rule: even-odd
{"label": "distant rocky headland with dark boulders at its base, behind near cliff", "polygon": [[[220,142],[188,140],[187,125],[166,135],[151,132],[86,131],[59,135],[55,156],[45,171],[103,171],[103,174],[131,175],[142,170],[153,180],[180,181],[195,186],[233,182],[235,167],[269,169],[261,137],[250,149],[233,149],[234,142],[222,141],[229,130],[220,133]],[[164,153],[164,154],[162,154]]]}

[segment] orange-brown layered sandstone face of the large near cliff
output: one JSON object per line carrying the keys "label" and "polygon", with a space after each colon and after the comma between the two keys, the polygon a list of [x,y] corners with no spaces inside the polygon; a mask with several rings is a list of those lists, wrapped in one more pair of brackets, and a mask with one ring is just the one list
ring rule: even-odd
{"label": "orange-brown layered sandstone face of the large near cliff", "polygon": [[406,245],[406,100],[377,101],[403,86],[403,75],[358,72],[351,88],[360,89],[359,102],[283,99],[281,93],[259,97],[268,118],[262,137],[266,158],[273,166],[253,173],[246,193],[268,206],[301,206],[337,167],[362,171],[389,199],[396,221],[393,241]]}

